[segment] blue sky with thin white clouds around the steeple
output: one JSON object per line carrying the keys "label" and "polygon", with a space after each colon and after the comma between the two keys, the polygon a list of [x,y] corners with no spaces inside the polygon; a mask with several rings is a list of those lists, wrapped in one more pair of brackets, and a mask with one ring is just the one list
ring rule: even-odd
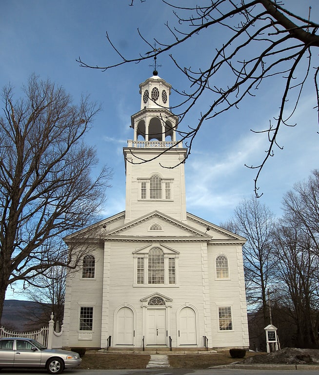
{"label": "blue sky with thin white clouds around the steeple", "polygon": [[[311,6],[311,18],[318,22],[317,0],[285,2],[304,18],[308,18]],[[106,41],[106,31],[126,57],[135,57],[149,50],[137,28],[150,41],[153,37],[164,41],[169,35],[165,22],[174,22],[172,10],[159,0],[135,0],[134,6],[129,3],[130,0],[0,1],[0,86],[11,83],[20,95],[21,85],[36,73],[63,85],[76,103],[82,93],[89,93],[93,101],[101,103],[103,110],[86,141],[96,146],[100,163],[114,170],[103,217],[125,208],[122,147],[133,138],[130,116],[140,110],[139,84],[152,76],[153,67],[149,65],[153,62],[101,72],[81,68],[76,59],[80,56],[89,64],[102,66],[119,61]],[[188,48],[179,47],[173,52],[174,57],[183,66],[197,66],[210,58],[220,38],[218,29],[212,35],[207,32],[201,39],[194,38]],[[158,63],[161,78],[179,90],[188,88],[188,82],[174,68],[168,54],[160,56]],[[277,216],[281,214],[283,194],[319,167],[319,126],[313,109],[314,86],[310,83],[293,119],[297,126],[282,128],[279,142],[284,149],[276,150],[259,180],[263,192],[260,201]],[[244,164],[257,165],[267,143],[263,135],[250,129],[267,127],[277,115],[279,102],[275,99],[281,90],[276,80],[264,83],[258,97],[248,98],[239,109],[203,125],[185,165],[187,211],[220,224],[231,217],[241,199],[253,194],[256,171]],[[206,100],[201,102],[203,107]],[[172,93],[170,104],[177,101],[177,94]],[[185,119],[185,129],[187,125],[196,125],[200,110],[198,106]]]}

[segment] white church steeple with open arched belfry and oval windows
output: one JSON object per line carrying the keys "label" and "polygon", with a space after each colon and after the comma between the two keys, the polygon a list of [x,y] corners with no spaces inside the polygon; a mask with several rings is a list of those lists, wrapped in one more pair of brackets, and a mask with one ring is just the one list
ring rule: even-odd
{"label": "white church steeple with open arched belfry and oval windows", "polygon": [[169,109],[172,86],[154,75],[140,84],[141,108],[131,116],[134,139],[123,148],[125,223],[154,210],[186,221],[184,159],[176,140],[178,116]]}

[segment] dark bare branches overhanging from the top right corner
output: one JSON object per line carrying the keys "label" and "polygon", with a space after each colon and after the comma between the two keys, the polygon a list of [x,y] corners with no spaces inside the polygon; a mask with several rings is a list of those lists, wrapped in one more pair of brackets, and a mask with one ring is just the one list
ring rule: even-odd
{"label": "dark bare branches overhanging from the top right corner", "polygon": [[[171,52],[170,57],[178,71],[190,82],[188,91],[177,91],[181,95],[181,101],[173,110],[180,118],[179,124],[205,93],[210,103],[206,108],[200,103],[199,122],[195,127],[179,130],[181,140],[186,141],[185,145],[188,147],[186,158],[204,121],[213,119],[232,107],[238,108],[247,96],[256,96],[258,89],[263,87],[263,81],[274,77],[281,79],[281,99],[274,104],[274,119],[269,121],[267,128],[257,131],[268,135],[269,147],[261,163],[249,166],[257,169],[255,194],[259,196],[259,174],[269,157],[274,155],[275,148],[282,148],[277,143],[280,127],[295,125],[291,117],[309,79],[314,82],[313,105],[318,107],[319,62],[316,48],[319,47],[319,24],[311,21],[310,17],[305,19],[293,14],[289,10],[289,2],[283,7],[283,2],[279,0],[199,1],[199,5],[194,7],[177,6],[162,0],[162,6],[164,4],[171,7],[176,16],[177,25],[166,24],[171,40],[160,41],[154,38],[150,41],[138,29],[145,42],[146,52],[129,58],[114,45],[107,33],[106,38],[118,53],[119,62],[97,66],[84,62],[80,57],[77,61],[80,66],[105,71],[126,63],[156,59],[160,54]],[[130,5],[134,5],[134,0]],[[202,60],[201,66],[184,67],[174,58],[175,48],[179,47],[179,53],[184,51],[188,55],[188,42],[191,38],[201,38],[205,33],[211,33],[210,44],[200,41],[199,44],[211,49],[211,60],[207,65]],[[218,38],[215,38],[216,34]],[[154,48],[154,42],[157,48]],[[264,91],[262,93],[266,94]]]}

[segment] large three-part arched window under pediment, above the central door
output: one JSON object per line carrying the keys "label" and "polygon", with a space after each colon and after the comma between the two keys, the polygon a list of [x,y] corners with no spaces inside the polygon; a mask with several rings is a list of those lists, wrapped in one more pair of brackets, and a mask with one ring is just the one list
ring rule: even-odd
{"label": "large three-part arched window under pediment, above the central door", "polygon": [[176,286],[179,252],[164,246],[148,246],[134,253],[134,285]]}

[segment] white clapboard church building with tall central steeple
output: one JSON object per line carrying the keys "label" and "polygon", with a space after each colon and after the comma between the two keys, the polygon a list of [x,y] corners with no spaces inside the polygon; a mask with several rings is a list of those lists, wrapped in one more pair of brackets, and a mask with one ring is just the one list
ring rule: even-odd
{"label": "white clapboard church building with tall central steeple", "polygon": [[67,277],[63,346],[248,348],[245,239],[186,211],[171,85],[153,74],[123,148],[125,210],[65,238],[86,250]]}

